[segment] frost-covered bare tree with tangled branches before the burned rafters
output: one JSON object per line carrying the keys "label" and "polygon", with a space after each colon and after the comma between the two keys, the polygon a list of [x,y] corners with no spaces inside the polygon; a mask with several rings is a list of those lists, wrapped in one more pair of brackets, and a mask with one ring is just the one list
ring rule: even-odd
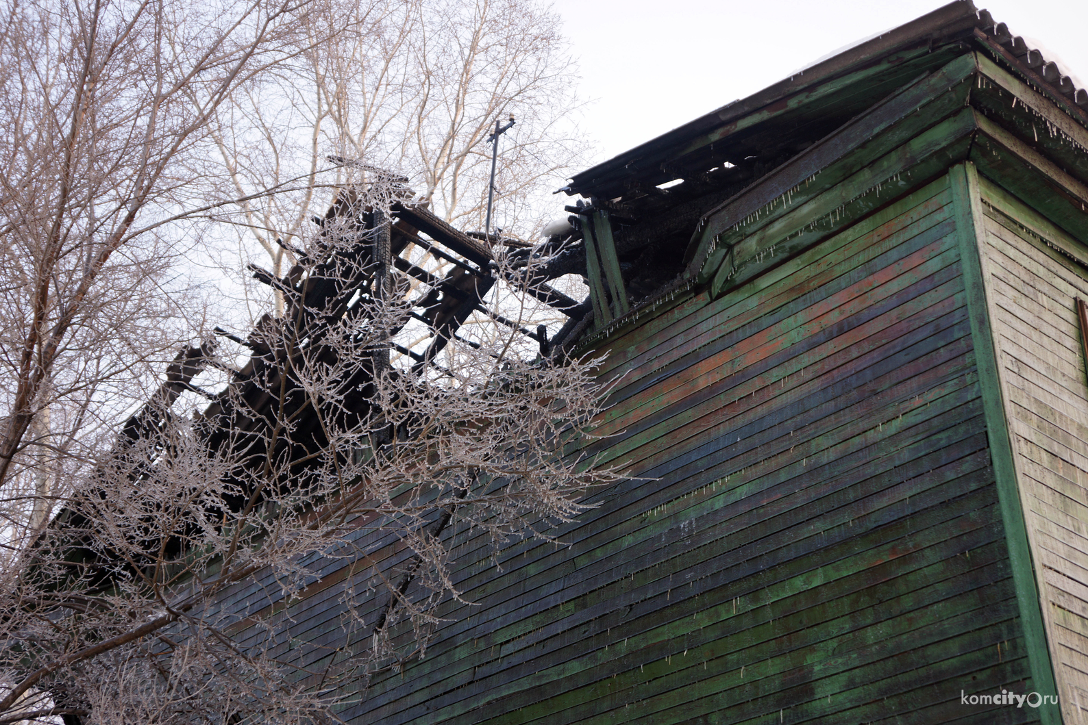
{"label": "frost-covered bare tree with tangled branches before the burned rafters", "polygon": [[[403,201],[373,187],[343,192],[302,261],[270,280],[285,314],[244,341],[251,359],[223,373],[211,405],[171,412],[208,365],[227,370],[206,343],[178,355],[7,570],[0,722],[323,722],[371,673],[425,652],[436,605],[460,596],[454,529],[495,547],[546,538],[589,487],[617,478],[564,454],[599,412],[591,363],[520,358],[522,333],[498,322],[489,343],[461,345],[438,303],[426,321],[461,348],[457,365],[391,364],[418,307],[392,262],[424,212],[391,224]],[[493,261],[473,287],[463,275],[431,286],[453,299],[460,285],[479,304],[504,274]],[[283,602],[336,559],[356,572],[343,596],[358,614],[331,643],[284,652]],[[235,596],[255,583],[262,598]]]}

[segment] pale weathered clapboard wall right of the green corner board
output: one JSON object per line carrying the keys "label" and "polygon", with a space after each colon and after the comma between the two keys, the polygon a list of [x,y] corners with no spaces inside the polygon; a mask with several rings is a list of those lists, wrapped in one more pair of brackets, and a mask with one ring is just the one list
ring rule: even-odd
{"label": "pale weathered clapboard wall right of the green corner board", "polygon": [[1088,722],[1088,250],[981,184],[986,291],[1035,575],[1066,723]]}

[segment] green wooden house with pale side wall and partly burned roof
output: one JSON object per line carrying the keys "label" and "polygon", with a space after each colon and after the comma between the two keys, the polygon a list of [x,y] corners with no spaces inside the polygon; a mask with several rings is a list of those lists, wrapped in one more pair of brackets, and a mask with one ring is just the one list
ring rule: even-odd
{"label": "green wooden house with pale side wall and partly burned roof", "polygon": [[453,540],[472,604],[339,716],[1088,722],[1085,90],[957,0],[567,191],[549,342],[622,374],[631,477],[500,568]]}

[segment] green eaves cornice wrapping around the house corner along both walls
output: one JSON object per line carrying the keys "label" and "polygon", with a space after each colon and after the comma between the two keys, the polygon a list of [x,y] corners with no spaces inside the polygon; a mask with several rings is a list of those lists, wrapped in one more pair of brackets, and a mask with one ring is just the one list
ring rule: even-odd
{"label": "green eaves cornice wrapping around the house corner along both walls", "polygon": [[[1004,125],[987,115],[1002,104]],[[707,214],[689,251],[688,275],[696,284],[709,282],[712,295],[721,293],[968,154],[984,175],[1088,243],[1086,147],[1088,130],[972,53],[886,99]]]}

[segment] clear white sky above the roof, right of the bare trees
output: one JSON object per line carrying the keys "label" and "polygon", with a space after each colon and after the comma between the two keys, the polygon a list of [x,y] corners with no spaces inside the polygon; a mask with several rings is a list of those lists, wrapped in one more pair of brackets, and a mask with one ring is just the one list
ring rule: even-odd
{"label": "clear white sky above the roof, right of the bare trees", "polygon": [[[594,99],[582,120],[597,142],[594,163],[943,4],[940,0],[553,0],[580,60],[581,95]],[[1088,0],[975,0],[975,4],[1007,24],[1014,35],[1037,40],[1048,60],[1088,84]]]}

